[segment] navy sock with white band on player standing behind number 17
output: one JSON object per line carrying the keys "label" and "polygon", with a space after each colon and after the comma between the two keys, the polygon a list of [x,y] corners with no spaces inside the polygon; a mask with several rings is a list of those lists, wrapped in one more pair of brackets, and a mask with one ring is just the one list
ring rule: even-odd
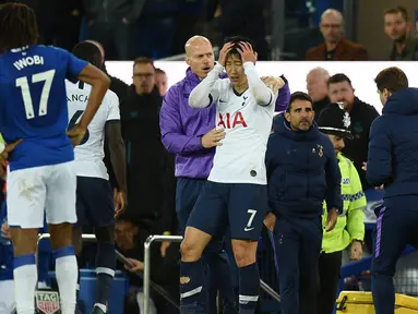
{"label": "navy sock with white band on player standing behind number 17", "polygon": [[[115,244],[98,242],[96,255],[97,292],[95,306],[107,312],[116,267]],[[106,310],[105,310],[106,309]]]}

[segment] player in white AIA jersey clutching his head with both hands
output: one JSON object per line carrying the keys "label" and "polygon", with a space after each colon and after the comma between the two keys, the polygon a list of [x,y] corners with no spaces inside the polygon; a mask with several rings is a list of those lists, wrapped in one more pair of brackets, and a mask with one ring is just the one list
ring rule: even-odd
{"label": "player in white AIA jersey clutching his head with both hands", "polygon": [[[254,313],[260,278],[256,244],[266,213],[264,155],[277,92],[285,83],[267,87],[255,70],[256,52],[249,39],[227,39],[219,61],[190,94],[189,105],[216,104],[216,124],[225,138],[216,147],[208,182],[193,208],[181,244],[181,313],[204,313],[201,255],[212,237],[231,230],[239,267],[240,313]],[[224,68],[229,78],[219,78]]]}

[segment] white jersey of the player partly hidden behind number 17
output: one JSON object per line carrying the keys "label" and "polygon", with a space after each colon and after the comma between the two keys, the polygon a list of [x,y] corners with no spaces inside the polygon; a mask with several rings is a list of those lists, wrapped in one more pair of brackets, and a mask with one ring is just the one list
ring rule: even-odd
{"label": "white jersey of the player partly hidden behind number 17", "polygon": [[[69,111],[68,130],[71,130],[83,116],[92,86],[85,83],[73,84],[65,81],[65,88]],[[109,179],[103,159],[105,157],[105,124],[106,121],[110,120],[120,120],[119,98],[114,92],[107,90],[101,106],[88,124],[86,136],[74,148],[74,166],[77,177]]]}

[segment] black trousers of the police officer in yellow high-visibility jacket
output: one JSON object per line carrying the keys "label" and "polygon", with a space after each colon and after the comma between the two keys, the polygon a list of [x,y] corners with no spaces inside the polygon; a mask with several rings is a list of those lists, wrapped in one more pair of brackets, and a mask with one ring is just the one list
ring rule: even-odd
{"label": "black trousers of the police officer in yellow high-visibility jacket", "polygon": [[332,314],[335,309],[336,293],[342,268],[343,251],[322,253],[319,261],[320,292],[318,293],[318,314]]}

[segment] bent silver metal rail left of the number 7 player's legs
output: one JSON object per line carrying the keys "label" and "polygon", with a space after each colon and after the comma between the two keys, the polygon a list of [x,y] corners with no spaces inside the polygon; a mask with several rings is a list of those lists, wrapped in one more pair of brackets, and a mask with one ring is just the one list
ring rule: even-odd
{"label": "bent silver metal rail left of the number 7 player's legs", "polygon": [[150,235],[144,243],[144,314],[150,313],[151,245],[154,242],[181,242],[181,235]]}

